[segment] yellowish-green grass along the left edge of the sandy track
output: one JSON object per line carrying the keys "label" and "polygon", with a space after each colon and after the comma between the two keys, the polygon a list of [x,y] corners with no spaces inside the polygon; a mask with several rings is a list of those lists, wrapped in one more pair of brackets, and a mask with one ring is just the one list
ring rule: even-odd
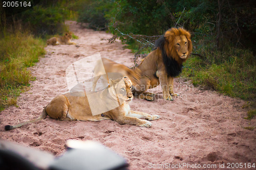
{"label": "yellowish-green grass along the left edge of the sandy track", "polygon": [[0,111],[16,105],[20,92],[30,86],[27,67],[33,66],[44,55],[45,42],[29,34],[5,33],[0,38]]}

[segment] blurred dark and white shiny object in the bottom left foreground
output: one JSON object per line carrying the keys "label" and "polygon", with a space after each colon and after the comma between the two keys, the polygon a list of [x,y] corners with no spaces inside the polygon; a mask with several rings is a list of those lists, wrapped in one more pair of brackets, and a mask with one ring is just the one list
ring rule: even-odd
{"label": "blurred dark and white shiny object in the bottom left foreground", "polygon": [[92,141],[68,141],[67,145],[67,152],[55,158],[52,154],[43,151],[0,140],[0,169],[127,169],[128,164],[124,158],[99,143]]}

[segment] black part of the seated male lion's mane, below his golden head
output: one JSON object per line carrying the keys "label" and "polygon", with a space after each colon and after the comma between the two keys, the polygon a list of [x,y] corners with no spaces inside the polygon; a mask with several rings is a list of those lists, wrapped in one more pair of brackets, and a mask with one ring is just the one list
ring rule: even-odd
{"label": "black part of the seated male lion's mane, below his golden head", "polygon": [[168,42],[165,40],[164,35],[162,35],[160,38],[158,38],[155,41],[154,50],[156,50],[157,48],[161,50],[163,63],[164,63],[167,75],[171,77],[177,77],[181,73],[183,65],[179,65],[178,62],[172,56],[168,56],[166,54],[166,51],[164,49],[165,43],[168,43]]}

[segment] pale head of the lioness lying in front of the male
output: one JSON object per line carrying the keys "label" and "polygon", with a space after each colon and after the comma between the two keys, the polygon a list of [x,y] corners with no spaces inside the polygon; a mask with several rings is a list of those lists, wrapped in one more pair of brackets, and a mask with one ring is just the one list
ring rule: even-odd
{"label": "pale head of the lioness lying in front of the male", "polygon": [[131,101],[133,99],[132,81],[128,77],[110,79],[110,93],[113,98],[119,100],[120,104]]}

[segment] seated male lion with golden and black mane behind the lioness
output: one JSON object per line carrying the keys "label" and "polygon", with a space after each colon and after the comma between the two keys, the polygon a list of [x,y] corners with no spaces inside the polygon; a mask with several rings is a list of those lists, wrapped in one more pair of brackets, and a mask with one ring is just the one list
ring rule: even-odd
{"label": "seated male lion with golden and black mane behind the lioness", "polygon": [[[172,28],[165,32],[155,43],[154,51],[146,56],[133,72],[140,72],[139,80],[134,83],[133,93],[139,95],[141,99],[148,101],[154,100],[154,94],[145,92],[147,89],[155,88],[159,84],[162,87],[163,98],[173,101],[174,78],[182,70],[182,63],[192,52],[192,42],[190,34],[182,29]],[[125,72],[127,67],[108,60],[104,64],[106,72]],[[133,76],[133,75],[130,75]],[[130,77],[131,78],[131,77]]]}

